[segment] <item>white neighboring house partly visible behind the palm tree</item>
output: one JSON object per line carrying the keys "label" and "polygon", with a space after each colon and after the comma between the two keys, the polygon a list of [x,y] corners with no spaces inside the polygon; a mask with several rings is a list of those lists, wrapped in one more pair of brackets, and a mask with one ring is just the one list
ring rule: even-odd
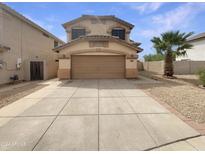
{"label": "white neighboring house partly visible behind the palm tree", "polygon": [[177,57],[176,60],[205,61],[205,33],[190,37],[187,41],[193,48],[187,50],[186,56]]}

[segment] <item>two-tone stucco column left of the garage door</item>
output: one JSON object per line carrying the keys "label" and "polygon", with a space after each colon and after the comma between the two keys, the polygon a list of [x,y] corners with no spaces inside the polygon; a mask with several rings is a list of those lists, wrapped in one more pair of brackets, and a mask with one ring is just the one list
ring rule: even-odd
{"label": "two-tone stucco column left of the garage door", "polygon": [[58,78],[59,79],[70,79],[71,78],[71,60],[70,59],[59,59],[58,67]]}

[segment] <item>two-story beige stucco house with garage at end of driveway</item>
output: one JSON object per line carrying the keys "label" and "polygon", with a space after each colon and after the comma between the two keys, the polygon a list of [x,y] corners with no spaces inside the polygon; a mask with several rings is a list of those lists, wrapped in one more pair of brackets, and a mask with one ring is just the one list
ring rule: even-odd
{"label": "two-story beige stucco house with garage at end of driveway", "polygon": [[63,27],[68,42],[54,49],[60,79],[137,77],[142,49],[130,40],[132,24],[112,15],[83,15]]}

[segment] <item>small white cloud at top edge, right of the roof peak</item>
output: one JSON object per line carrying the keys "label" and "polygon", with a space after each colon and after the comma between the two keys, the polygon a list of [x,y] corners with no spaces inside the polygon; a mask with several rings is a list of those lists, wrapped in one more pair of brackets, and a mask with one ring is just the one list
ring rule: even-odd
{"label": "small white cloud at top edge, right of the roof peak", "polygon": [[139,11],[140,14],[148,14],[157,11],[164,3],[153,2],[153,3],[132,3],[130,7]]}

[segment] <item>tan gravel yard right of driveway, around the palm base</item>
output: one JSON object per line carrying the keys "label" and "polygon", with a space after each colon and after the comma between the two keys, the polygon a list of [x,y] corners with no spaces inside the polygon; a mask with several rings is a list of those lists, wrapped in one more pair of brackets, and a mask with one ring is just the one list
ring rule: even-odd
{"label": "tan gravel yard right of driveway, around the palm base", "polygon": [[169,104],[187,118],[205,122],[205,89],[197,86],[196,76],[177,76],[163,79],[161,75],[140,72],[142,76],[158,79],[160,83],[140,84],[139,88]]}

